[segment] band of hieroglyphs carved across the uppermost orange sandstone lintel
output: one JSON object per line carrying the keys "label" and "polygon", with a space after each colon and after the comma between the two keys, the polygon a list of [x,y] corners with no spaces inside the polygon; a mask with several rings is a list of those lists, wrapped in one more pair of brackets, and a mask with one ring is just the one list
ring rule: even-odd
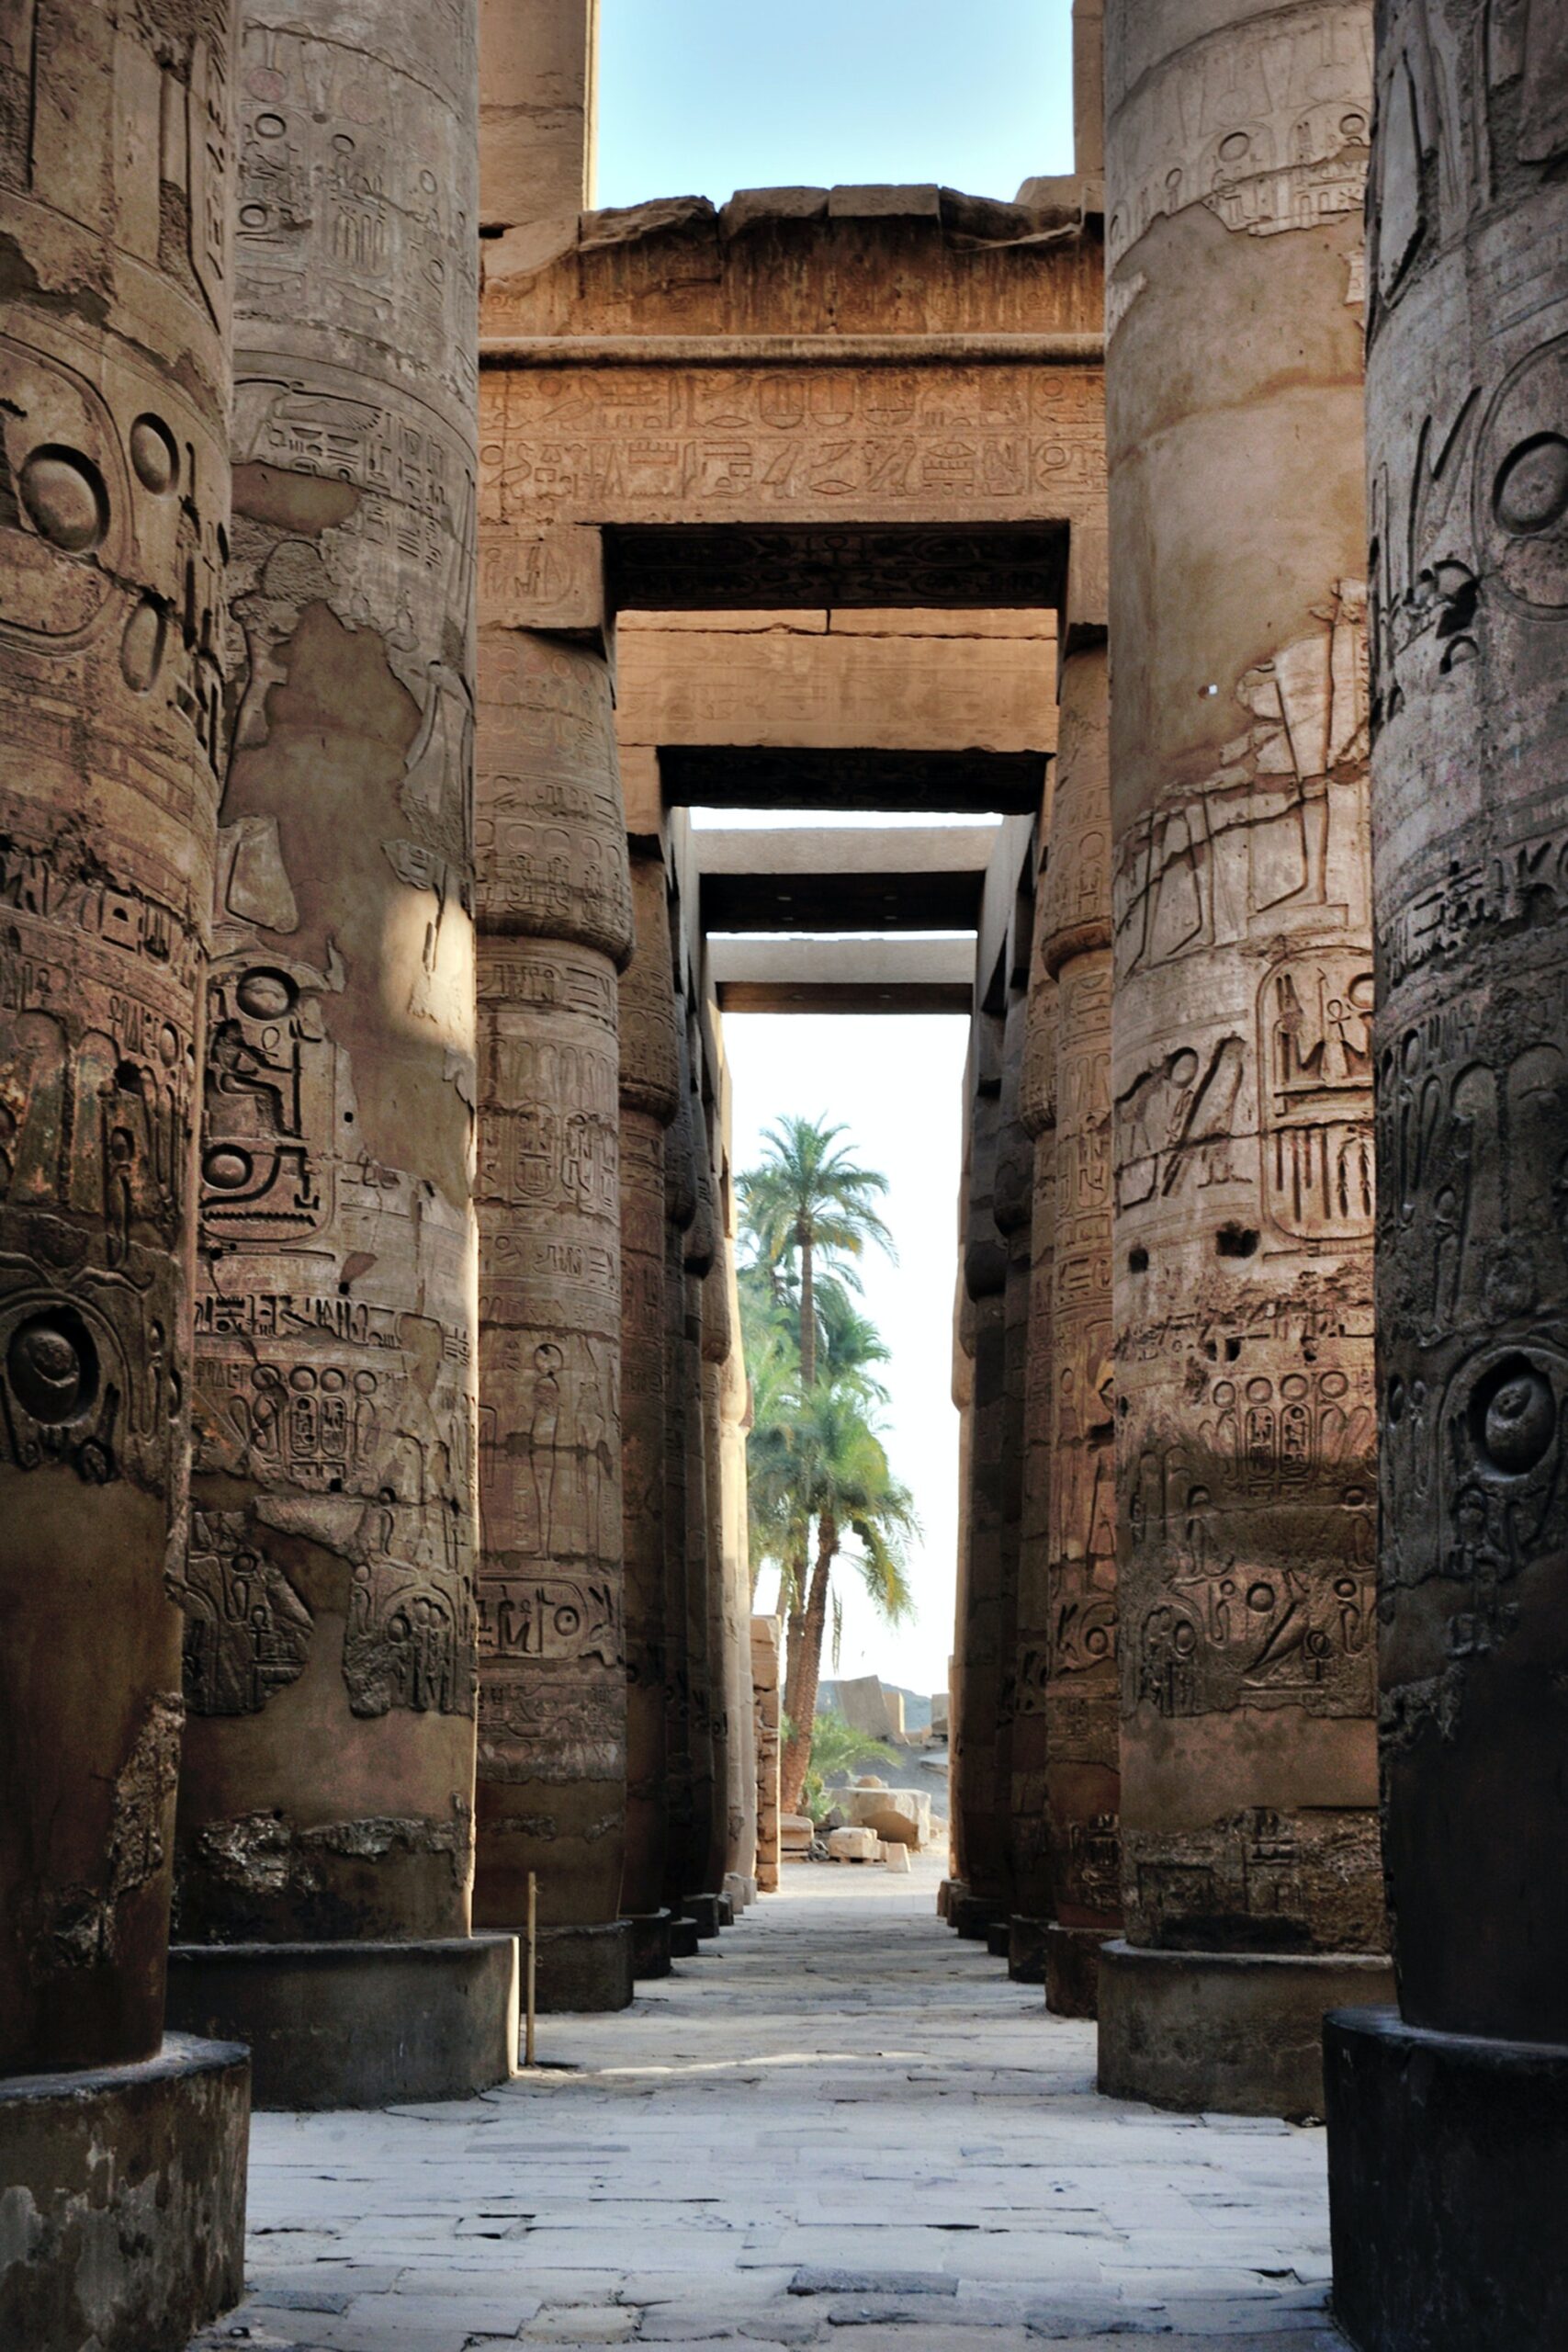
{"label": "band of hieroglyphs carved across the uppermost orange sandstone lintel", "polygon": [[552,367],[480,383],[482,515],[898,520],[1086,510],[1103,468],[1072,367]]}

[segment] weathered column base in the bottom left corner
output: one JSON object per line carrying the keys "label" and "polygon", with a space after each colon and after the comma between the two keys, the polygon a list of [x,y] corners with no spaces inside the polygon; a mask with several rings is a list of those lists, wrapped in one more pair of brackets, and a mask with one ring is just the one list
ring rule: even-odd
{"label": "weathered column base in the bottom left corner", "polygon": [[247,2136],[233,2042],[0,2082],[0,2343],[174,2352],[237,2303]]}

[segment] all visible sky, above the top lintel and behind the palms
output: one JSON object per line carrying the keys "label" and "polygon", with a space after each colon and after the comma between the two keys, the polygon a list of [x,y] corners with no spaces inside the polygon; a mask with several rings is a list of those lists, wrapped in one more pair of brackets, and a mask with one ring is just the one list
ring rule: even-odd
{"label": "all visible sky, above the top lintel and behind the palms", "polygon": [[[952,0],[599,0],[597,205],[724,202],[736,188],[839,181],[936,181],[1011,198],[1034,174],[1070,169],[1072,0],[971,0],[966,9]],[[966,1023],[736,1014],[724,1037],[738,1169],[759,1157],[773,1120],[799,1112],[842,1120],[863,1162],[891,1181],[886,1221],[900,1263],[867,1263],[865,1308],[893,1350],[884,1428],[924,1529],[910,1559],[919,1621],[886,1632],[844,1573],[839,1672],[940,1691],[957,1548],[950,1385]]]}

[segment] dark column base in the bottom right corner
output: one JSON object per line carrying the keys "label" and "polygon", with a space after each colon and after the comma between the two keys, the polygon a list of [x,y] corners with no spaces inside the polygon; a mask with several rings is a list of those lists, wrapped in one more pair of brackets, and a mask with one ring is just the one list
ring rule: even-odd
{"label": "dark column base in the bottom right corner", "polygon": [[1324,2020],[1333,2317],[1359,2352],[1568,2343],[1568,2046]]}

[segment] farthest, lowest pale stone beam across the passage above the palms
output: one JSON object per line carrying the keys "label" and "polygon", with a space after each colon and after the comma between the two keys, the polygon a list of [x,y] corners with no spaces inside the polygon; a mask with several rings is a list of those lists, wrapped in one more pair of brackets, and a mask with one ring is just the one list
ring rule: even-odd
{"label": "farthest, lowest pale stone beam across the passage above the palms", "polygon": [[710,938],[724,1014],[969,1014],[973,938]]}

